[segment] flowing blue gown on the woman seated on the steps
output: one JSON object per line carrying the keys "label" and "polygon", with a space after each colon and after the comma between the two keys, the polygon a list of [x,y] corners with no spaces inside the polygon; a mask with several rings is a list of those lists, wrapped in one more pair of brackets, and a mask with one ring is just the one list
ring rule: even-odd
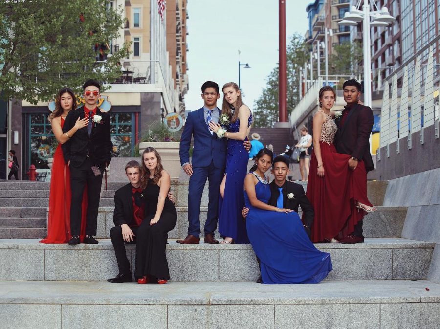
{"label": "flowing blue gown on the woman seated on the steps", "polygon": [[[259,181],[257,198],[267,203],[270,187]],[[318,283],[333,269],[330,254],[319,251],[308,238],[298,213],[253,207],[244,191],[247,235],[261,261],[265,284]]]}

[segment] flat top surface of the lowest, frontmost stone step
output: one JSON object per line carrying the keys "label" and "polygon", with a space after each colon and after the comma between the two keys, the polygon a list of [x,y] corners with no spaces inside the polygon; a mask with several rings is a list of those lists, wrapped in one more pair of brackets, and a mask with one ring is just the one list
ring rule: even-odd
{"label": "flat top surface of the lowest, frontmost stone step", "polygon": [[[429,287],[429,291],[425,288]],[[295,305],[440,302],[427,280],[346,280],[319,284],[173,282],[166,285],[100,281],[0,281],[0,304]]]}

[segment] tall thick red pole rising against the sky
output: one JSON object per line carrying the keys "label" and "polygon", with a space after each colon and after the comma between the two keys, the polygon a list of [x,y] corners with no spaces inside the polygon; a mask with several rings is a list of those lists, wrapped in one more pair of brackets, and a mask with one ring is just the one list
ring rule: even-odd
{"label": "tall thick red pole rising against the sky", "polygon": [[286,0],[279,0],[280,64],[279,64],[279,120],[287,122],[287,60],[286,60]]}

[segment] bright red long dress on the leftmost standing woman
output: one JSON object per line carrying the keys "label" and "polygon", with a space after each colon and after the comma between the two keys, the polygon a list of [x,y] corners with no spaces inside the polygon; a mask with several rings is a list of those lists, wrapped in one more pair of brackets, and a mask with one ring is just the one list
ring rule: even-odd
{"label": "bright red long dress on the leftmost standing woman", "polygon": [[[61,128],[64,119],[61,118]],[[50,178],[49,214],[47,219],[47,237],[41,243],[67,243],[70,240],[70,169],[64,161],[61,144],[53,154],[52,174]],[[83,216],[81,219],[81,242],[86,232],[87,189],[83,195]]]}

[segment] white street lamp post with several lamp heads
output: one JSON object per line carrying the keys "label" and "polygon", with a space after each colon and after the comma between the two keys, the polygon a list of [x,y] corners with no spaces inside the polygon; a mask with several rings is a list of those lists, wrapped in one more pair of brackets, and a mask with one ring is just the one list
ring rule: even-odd
{"label": "white street lamp post with several lamp heads", "polygon": [[[396,18],[388,13],[387,7],[382,7],[381,10],[376,6],[376,10],[370,11],[369,0],[364,0],[362,10],[352,6],[349,12],[346,12],[344,19],[338,22],[339,25],[350,25],[357,26],[358,22],[363,21],[363,31],[362,31],[362,43],[364,52],[364,104],[371,107],[371,37],[370,28],[371,26],[388,26],[388,22],[394,22]],[[360,4],[360,2],[359,2]],[[359,6],[358,4],[358,6]],[[373,21],[370,22],[370,18]]]}

